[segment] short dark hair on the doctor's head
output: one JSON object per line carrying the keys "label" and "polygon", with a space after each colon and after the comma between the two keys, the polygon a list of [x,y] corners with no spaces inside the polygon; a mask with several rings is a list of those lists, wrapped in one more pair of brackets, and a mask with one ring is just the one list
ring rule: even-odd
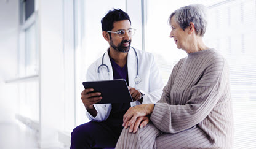
{"label": "short dark hair on the doctor's head", "polygon": [[[111,31],[114,26],[114,22],[116,21],[122,21],[122,20],[129,20],[129,15],[122,11],[121,9],[113,9],[109,10],[108,13],[106,13],[105,17],[102,18],[102,31]],[[130,24],[132,24],[130,22]]]}

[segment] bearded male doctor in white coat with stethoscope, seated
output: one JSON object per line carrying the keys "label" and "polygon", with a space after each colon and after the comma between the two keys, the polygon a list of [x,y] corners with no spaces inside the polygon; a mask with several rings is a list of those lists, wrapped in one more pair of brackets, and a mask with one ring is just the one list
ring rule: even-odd
{"label": "bearded male doctor in white coat with stethoscope, seated", "polygon": [[[162,94],[162,78],[151,53],[130,48],[135,29],[121,9],[110,10],[102,18],[102,35],[110,47],[87,70],[87,81],[126,79],[133,101],[126,104],[96,104],[102,97],[86,88],[81,99],[89,123],[71,133],[71,148],[115,147],[122,132],[124,113],[135,105],[156,103]],[[122,98],[122,97],[120,97]],[[149,121],[142,117],[143,122]]]}

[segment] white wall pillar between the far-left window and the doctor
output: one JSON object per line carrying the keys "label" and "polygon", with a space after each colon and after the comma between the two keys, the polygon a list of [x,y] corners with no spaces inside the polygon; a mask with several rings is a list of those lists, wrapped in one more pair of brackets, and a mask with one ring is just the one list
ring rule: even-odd
{"label": "white wall pillar between the far-left window and the doctor", "polygon": [[39,2],[40,147],[57,147],[63,128],[63,1]]}

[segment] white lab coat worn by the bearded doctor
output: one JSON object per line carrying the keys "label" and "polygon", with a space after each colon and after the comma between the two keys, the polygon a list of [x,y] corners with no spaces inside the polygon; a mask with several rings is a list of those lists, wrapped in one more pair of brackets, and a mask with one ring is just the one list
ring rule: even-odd
{"label": "white lab coat worn by the bearded doctor", "polygon": [[[137,59],[134,50],[130,48],[127,57],[129,86],[140,89],[145,93],[142,104],[156,103],[162,95],[164,84],[159,69],[154,61],[154,56],[142,50],[136,50],[136,52],[138,55],[138,77],[142,79],[142,82],[139,84],[135,84],[134,82],[134,78],[137,74]],[[103,63],[108,66],[110,75],[108,75],[106,69],[102,69],[98,77],[98,66],[102,64],[101,56],[87,69],[87,81],[113,80],[113,70],[108,52],[105,52]],[[139,101],[135,101],[131,102],[130,106],[133,107],[139,104],[141,104]],[[111,104],[94,104],[94,107],[98,112],[96,117],[90,115],[86,110],[87,117],[92,121],[105,121],[110,115],[112,108]]]}

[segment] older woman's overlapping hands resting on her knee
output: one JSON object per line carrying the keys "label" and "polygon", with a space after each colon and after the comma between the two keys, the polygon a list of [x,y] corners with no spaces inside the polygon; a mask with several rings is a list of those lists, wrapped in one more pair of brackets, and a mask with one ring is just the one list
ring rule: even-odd
{"label": "older woman's overlapping hands resting on her knee", "polygon": [[[136,105],[134,107],[130,107],[127,110],[127,112],[124,114],[124,118],[123,118],[124,123],[122,124],[122,126],[124,126],[124,128],[128,128],[128,126],[130,126],[129,132],[137,131],[140,122],[143,120],[146,120],[145,117],[148,115],[151,115],[151,113],[153,112],[153,109],[154,109],[154,104],[141,104],[141,105]],[[143,118],[139,118],[139,117],[143,117]]]}

